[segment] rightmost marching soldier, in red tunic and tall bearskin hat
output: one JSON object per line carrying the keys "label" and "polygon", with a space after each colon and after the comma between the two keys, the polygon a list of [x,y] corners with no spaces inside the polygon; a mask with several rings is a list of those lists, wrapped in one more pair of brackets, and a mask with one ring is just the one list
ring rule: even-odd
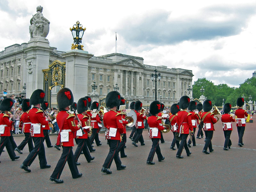
{"label": "rightmost marching soldier, in red tunic and tall bearskin hat", "polygon": [[244,116],[248,116],[246,110],[243,109],[244,105],[244,98],[239,97],[236,100],[236,105],[239,107],[235,111],[235,115],[237,116],[237,121],[236,121],[236,127],[237,127],[237,132],[238,132],[238,146],[243,147],[243,136],[244,136],[244,129],[245,129],[245,119]]}

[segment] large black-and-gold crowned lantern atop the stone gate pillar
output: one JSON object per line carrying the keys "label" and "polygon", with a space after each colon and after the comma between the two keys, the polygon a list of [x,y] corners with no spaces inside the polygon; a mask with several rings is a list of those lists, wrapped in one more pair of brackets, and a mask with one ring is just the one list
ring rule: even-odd
{"label": "large black-and-gold crowned lantern atop the stone gate pillar", "polygon": [[80,43],[82,43],[82,37],[86,28],[83,28],[83,25],[81,25],[79,21],[76,21],[76,24],[73,25],[73,28],[69,29],[72,32],[72,36],[74,39],[74,43],[72,44],[71,49],[84,50],[84,45],[80,45]]}

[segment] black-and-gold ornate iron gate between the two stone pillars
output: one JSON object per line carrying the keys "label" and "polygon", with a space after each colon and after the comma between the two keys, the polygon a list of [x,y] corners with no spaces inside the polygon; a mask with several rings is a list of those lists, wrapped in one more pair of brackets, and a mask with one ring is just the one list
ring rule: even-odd
{"label": "black-and-gold ornate iron gate between the two stone pillars", "polygon": [[51,107],[51,90],[55,86],[65,87],[66,62],[55,60],[49,65],[49,69],[43,69],[44,72],[44,92],[45,99]]}

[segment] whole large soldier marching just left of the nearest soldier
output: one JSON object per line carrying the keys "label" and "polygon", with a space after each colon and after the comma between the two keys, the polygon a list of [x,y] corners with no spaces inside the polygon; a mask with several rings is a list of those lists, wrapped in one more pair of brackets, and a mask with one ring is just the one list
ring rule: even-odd
{"label": "whole large soldier marching just left of the nearest soldier", "polygon": [[[29,153],[28,157],[20,165],[21,169],[24,169],[27,172],[31,172],[28,169],[36,156],[38,155],[39,164],[41,169],[50,168],[51,165],[47,164],[44,150],[44,132],[43,125],[47,125],[49,122],[45,119],[44,112],[41,110],[40,103],[44,102],[45,93],[42,89],[35,90],[29,100],[30,105],[34,105],[32,109],[29,110],[28,116],[31,120],[31,135],[34,141],[35,147]],[[49,120],[50,118],[47,117]]]}

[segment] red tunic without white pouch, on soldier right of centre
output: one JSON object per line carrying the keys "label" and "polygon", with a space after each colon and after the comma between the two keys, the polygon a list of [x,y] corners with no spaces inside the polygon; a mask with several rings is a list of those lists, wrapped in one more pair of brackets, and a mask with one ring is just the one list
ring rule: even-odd
{"label": "red tunic without white pouch, on soldier right of centre", "polygon": [[180,132],[180,134],[189,134],[189,129],[190,131],[193,131],[191,116],[192,114],[188,113],[185,110],[177,113],[177,119],[176,119],[176,122],[178,124],[177,132]]}

